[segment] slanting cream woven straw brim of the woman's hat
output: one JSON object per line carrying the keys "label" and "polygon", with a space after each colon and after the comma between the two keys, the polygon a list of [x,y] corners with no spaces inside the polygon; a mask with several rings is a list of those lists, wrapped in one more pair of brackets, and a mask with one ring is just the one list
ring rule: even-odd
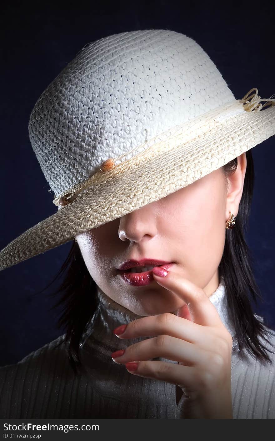
{"label": "slanting cream woven straw brim of the woman's hat", "polygon": [[[217,170],[275,134],[275,106],[244,111],[188,142],[127,161],[123,173],[85,190],[0,251],[0,270],[51,250],[74,236],[164,198]],[[132,166],[132,164],[134,164]],[[134,197],[133,197],[134,196]]]}

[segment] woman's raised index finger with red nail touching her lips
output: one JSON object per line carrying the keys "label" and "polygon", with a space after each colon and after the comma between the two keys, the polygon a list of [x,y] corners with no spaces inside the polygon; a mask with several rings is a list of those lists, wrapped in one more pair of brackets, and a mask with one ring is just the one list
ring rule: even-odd
{"label": "woman's raised index finger with red nail touching her lips", "polygon": [[183,271],[178,265],[172,265],[167,272],[167,276],[160,277],[154,273],[154,269],[152,270],[153,277],[158,284],[186,302],[194,323],[204,326],[223,325],[218,311],[204,290],[183,277]]}

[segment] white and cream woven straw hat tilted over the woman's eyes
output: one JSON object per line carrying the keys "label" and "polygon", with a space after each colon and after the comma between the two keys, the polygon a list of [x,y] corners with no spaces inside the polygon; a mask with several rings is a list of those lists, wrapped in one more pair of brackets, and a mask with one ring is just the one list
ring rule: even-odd
{"label": "white and cream woven straw hat tilted over the woman's eyes", "polygon": [[227,164],[275,134],[274,105],[256,88],[236,100],[181,33],[137,30],[89,43],[30,115],[30,142],[58,210],[0,251],[0,270]]}

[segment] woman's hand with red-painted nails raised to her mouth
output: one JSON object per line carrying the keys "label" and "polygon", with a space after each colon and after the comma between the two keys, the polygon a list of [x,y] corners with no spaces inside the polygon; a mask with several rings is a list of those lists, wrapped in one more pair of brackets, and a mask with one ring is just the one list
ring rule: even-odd
{"label": "woman's hand with red-painted nails raised to her mouth", "polygon": [[[158,267],[159,268],[159,267]],[[182,276],[174,264],[167,276],[155,280],[185,301],[178,316],[171,313],[139,318],[126,325],[119,338],[156,336],[111,354],[127,363],[131,374],[178,385],[186,396],[182,418],[233,419],[231,400],[232,337],[203,289]],[[186,318],[184,318],[186,317]],[[124,353],[123,353],[124,352]],[[179,364],[150,360],[163,357]],[[128,363],[128,362],[136,363]],[[136,370],[130,370],[137,366]]]}

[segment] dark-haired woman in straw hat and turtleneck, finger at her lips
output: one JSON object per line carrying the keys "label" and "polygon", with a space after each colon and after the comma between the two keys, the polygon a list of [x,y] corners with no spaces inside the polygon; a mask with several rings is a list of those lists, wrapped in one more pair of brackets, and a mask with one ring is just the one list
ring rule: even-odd
{"label": "dark-haired woman in straw hat and turtleneck, finger at her lips", "polygon": [[30,141],[58,212],[0,262],[76,240],[67,333],[0,368],[2,418],[275,418],[244,238],[251,148],[275,133],[257,92],[236,100],[195,41],[143,30],[83,48],[42,93]]}

